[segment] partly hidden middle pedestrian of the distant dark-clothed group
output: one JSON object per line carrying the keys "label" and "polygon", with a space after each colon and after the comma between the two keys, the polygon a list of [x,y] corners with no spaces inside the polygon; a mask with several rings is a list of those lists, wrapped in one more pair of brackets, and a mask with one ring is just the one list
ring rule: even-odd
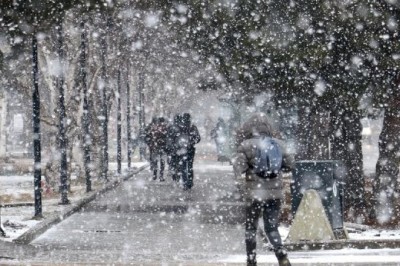
{"label": "partly hidden middle pedestrian of the distant dark-clothed group", "polygon": [[179,181],[178,177],[178,154],[176,140],[179,135],[179,123],[182,121],[182,115],[177,114],[174,117],[174,121],[168,126],[167,132],[167,157],[168,157],[168,170],[171,174],[172,180]]}

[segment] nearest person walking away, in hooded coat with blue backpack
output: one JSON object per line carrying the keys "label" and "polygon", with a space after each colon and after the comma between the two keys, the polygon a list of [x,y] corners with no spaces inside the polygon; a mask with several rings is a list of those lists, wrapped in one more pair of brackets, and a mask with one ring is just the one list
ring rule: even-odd
{"label": "nearest person walking away, in hooded coat with blue backpack", "polygon": [[280,266],[291,265],[279,235],[279,214],[283,198],[282,171],[290,171],[293,158],[277,137],[265,114],[258,113],[244,123],[237,154],[233,160],[236,177],[245,175],[245,242],[247,265],[255,266],[256,232],[263,213],[264,230]]}

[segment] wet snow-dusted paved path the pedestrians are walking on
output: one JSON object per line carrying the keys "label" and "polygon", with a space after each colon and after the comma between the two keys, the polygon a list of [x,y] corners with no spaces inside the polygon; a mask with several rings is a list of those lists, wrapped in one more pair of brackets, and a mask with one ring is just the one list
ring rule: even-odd
{"label": "wet snow-dusted paved path the pedestrians are walking on", "polygon": [[[244,265],[242,206],[227,163],[197,161],[191,192],[144,170],[34,240],[34,256],[0,265]],[[285,238],[287,227],[280,231]],[[258,243],[259,264],[277,265]],[[400,249],[294,251],[290,258],[293,265],[399,265]]]}

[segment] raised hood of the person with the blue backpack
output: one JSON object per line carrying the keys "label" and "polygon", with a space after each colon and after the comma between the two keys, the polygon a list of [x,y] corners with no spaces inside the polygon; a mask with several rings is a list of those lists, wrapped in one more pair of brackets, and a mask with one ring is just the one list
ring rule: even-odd
{"label": "raised hood of the person with the blue backpack", "polygon": [[240,143],[246,139],[259,137],[261,135],[279,138],[279,134],[273,129],[267,115],[264,113],[256,113],[236,132],[236,144],[240,145]]}

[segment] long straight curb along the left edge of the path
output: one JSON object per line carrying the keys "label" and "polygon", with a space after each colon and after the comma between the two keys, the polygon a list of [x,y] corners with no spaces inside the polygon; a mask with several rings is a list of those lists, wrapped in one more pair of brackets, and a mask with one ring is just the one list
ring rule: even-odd
{"label": "long straight curb along the left edge of the path", "polygon": [[122,182],[130,179],[132,176],[138,174],[145,168],[147,168],[148,165],[145,164],[137,169],[134,169],[131,172],[128,172],[122,176],[122,178],[111,181],[110,183],[107,183],[102,189],[99,191],[94,191],[91,192],[88,196],[78,200],[76,203],[72,204],[72,206],[69,206],[66,208],[64,211],[62,211],[59,214],[53,214],[49,218],[46,218],[43,222],[38,223],[37,225],[33,226],[30,228],[28,231],[23,233],[21,236],[18,238],[14,239],[13,242],[17,244],[29,244],[32,242],[36,237],[39,235],[43,234],[46,232],[51,226],[58,224],[62,220],[66,219],[67,217],[71,216],[75,212],[79,211],[84,205],[87,203],[93,201],[96,199],[97,196],[100,196],[107,191],[119,186]]}

